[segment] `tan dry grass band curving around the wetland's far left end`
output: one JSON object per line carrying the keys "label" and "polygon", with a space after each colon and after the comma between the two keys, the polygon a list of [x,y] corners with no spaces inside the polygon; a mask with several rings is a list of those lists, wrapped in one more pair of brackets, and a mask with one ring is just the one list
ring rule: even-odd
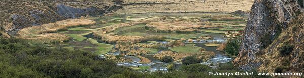
{"label": "tan dry grass band curving around the wetland's far left end", "polygon": [[80,19],[68,19],[63,21],[58,21],[56,23],[43,24],[41,26],[33,26],[21,29],[17,33],[18,38],[40,40],[40,41],[65,41],[69,37],[62,34],[55,34],[52,32],[57,32],[59,30],[67,30],[69,27],[74,26],[86,26],[95,24],[95,21],[80,18]]}

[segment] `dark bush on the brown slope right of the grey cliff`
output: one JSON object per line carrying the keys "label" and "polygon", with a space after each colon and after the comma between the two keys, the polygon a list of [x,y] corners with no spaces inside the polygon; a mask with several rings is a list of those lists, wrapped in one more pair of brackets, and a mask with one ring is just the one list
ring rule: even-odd
{"label": "dark bush on the brown slope right of the grey cliff", "polygon": [[288,45],[284,45],[282,48],[280,48],[279,51],[282,56],[288,56],[292,52],[293,48],[294,48],[294,45],[288,44]]}

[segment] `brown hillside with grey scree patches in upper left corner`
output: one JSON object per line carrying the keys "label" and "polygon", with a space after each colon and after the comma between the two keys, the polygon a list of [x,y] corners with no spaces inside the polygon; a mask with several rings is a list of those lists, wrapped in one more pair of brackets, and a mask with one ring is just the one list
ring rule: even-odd
{"label": "brown hillside with grey scree patches in upper left corner", "polygon": [[14,35],[19,29],[86,15],[102,15],[122,8],[113,2],[8,0],[0,4],[1,31]]}

